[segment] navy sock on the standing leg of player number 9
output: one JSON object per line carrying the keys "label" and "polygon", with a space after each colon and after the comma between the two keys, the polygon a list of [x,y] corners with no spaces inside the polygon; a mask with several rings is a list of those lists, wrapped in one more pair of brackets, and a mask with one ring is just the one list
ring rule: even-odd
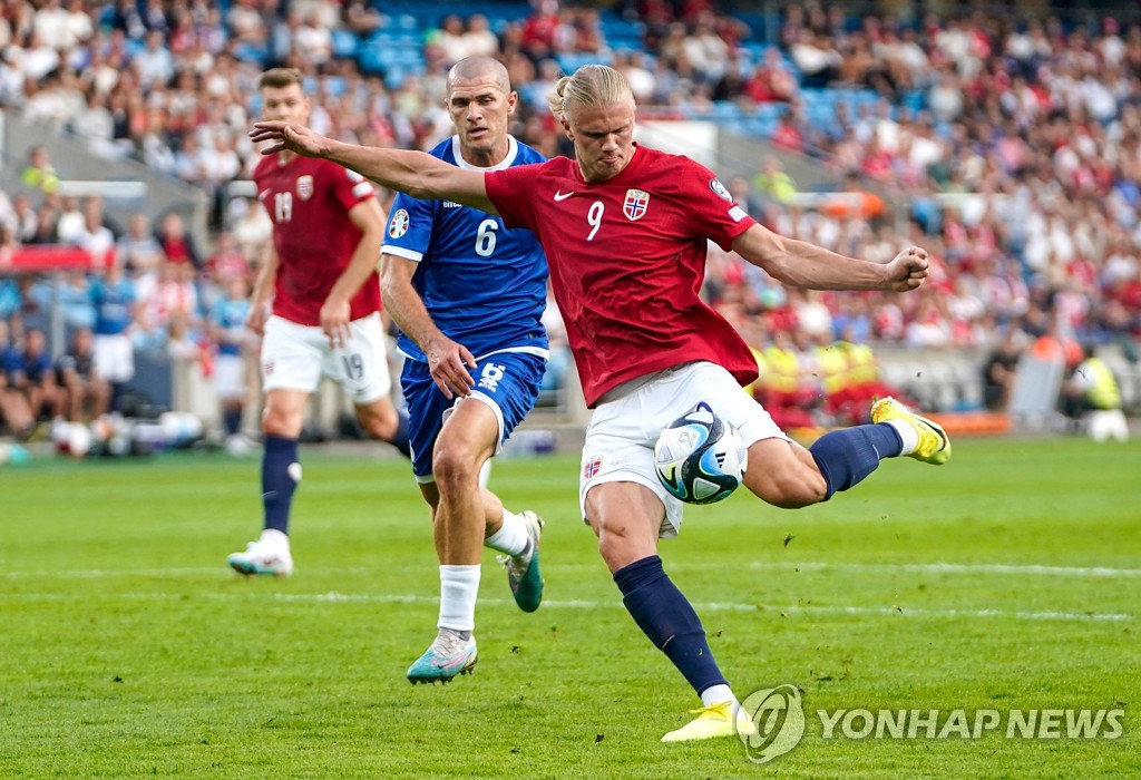
{"label": "navy sock on the standing leg of player number 9", "polygon": [[644,558],[614,572],[622,603],[649,641],[673,661],[697,694],[712,685],[728,685],[697,612],[670,582],[657,555]]}

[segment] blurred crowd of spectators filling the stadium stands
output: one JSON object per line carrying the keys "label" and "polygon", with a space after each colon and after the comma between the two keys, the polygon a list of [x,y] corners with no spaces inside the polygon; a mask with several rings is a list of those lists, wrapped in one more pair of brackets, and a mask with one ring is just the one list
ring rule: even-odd
{"label": "blurred crowd of spectators filling the stadium stands", "polygon": [[[27,356],[38,336],[24,323],[52,300],[68,332],[96,341],[129,336],[135,349],[209,363],[219,343],[242,340],[219,319],[221,303],[246,294],[270,226],[256,201],[227,187],[257,162],[246,131],[258,75],[275,65],[309,79],[315,130],[377,146],[423,149],[450,135],[445,74],[472,54],[507,65],[525,98],[513,131],[548,155],[568,147],[541,98],[569,63],[613,64],[649,116],[775,107],[772,143],[828,165],[847,194],[806,208],[779,160],[758,161],[753,179],[729,182],[747,210],[780,234],[855,257],[887,261],[914,243],[933,266],[916,295],[804,293],[711,246],[710,300],[760,355],[791,346],[802,376],[820,373],[816,350],[834,342],[834,352],[876,342],[993,349],[1013,364],[1035,340],[1054,339],[1075,360],[1079,341],[1119,343],[1136,359],[1141,25],[981,14],[905,24],[808,5],[790,6],[776,44],[758,46],[747,21],[712,0],[626,0],[605,11],[536,0],[494,25],[493,9],[442,7],[418,43],[421,65],[395,80],[339,54],[338,40],[361,44],[394,23],[366,0],[5,3],[5,111],[72,133],[92,155],[139,160],[200,186],[215,203],[212,245],[197,246],[175,214],[116,225],[98,197],[62,196],[67,171],[42,148],[19,161],[23,187],[0,194],[0,246],[68,244],[119,261],[57,289],[46,277],[0,277],[9,429],[23,430],[27,414],[90,415],[115,403],[92,391],[84,411],[58,390],[63,364],[47,369]],[[637,17],[637,44],[612,46],[604,13]],[[830,98],[852,90],[871,99]],[[814,120],[822,100],[834,104],[832,121]],[[76,355],[67,351],[70,366]],[[56,390],[30,389],[49,379]],[[1001,405],[1001,390],[992,403]],[[814,421],[840,415],[808,406]]]}

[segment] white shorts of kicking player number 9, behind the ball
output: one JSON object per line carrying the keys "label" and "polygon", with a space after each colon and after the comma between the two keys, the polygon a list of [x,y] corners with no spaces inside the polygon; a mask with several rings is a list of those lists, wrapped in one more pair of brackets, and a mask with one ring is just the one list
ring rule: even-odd
{"label": "white shorts of kicking player number 9, behind the ball", "polygon": [[[654,445],[662,430],[707,403],[741,431],[746,446],[761,439],[788,439],[769,413],[737,384],[728,371],[705,361],[687,363],[617,388],[616,397],[594,409],[582,448],[578,506],[586,518],[586,494],[602,482],[636,482],[654,491],[665,506],[658,535],[672,538],[681,529],[685,504],[666,491],[654,469]],[[608,393],[609,395],[609,393]]]}

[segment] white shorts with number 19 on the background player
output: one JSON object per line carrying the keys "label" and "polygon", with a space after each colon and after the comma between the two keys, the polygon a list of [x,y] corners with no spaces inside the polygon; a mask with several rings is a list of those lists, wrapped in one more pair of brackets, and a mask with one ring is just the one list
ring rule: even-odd
{"label": "white shorts with number 19 on the background player", "polygon": [[338,349],[330,346],[329,336],[316,325],[269,318],[261,342],[262,387],[311,393],[322,376],[345,388],[358,406],[389,395],[393,379],[379,312],[349,323],[348,343]]}

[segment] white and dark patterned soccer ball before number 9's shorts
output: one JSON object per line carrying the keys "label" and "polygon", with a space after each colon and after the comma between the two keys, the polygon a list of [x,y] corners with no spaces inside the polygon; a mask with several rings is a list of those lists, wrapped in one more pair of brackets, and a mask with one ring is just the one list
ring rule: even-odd
{"label": "white and dark patterned soccer ball before number 9's shorts", "polygon": [[662,485],[687,504],[712,504],[737,489],[748,448],[736,428],[698,404],[665,426],[654,445]]}

